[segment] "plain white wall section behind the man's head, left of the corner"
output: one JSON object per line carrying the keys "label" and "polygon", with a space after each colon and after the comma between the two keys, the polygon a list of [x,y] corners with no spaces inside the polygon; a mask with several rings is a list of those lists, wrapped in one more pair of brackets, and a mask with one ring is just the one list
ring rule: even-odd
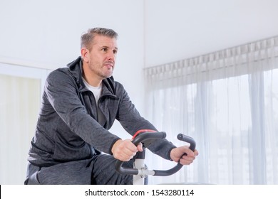
{"label": "plain white wall section behind the man's head, left of the corner", "polygon": [[114,77],[143,112],[143,1],[1,0],[0,62],[63,67],[78,57],[81,34],[97,26],[118,32]]}

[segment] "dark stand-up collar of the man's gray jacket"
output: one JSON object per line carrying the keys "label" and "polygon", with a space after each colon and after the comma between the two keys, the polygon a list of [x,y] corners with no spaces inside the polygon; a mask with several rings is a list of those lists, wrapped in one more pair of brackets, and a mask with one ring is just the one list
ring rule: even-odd
{"label": "dark stand-up collar of the man's gray jacket", "polygon": [[[69,71],[71,72],[71,74],[76,80],[78,89],[81,92],[87,91],[86,85],[82,80],[83,63],[81,57],[79,56],[76,60],[73,60],[73,62],[68,63],[67,66]],[[109,95],[109,94],[115,95],[115,81],[113,76],[103,80],[103,95]]]}

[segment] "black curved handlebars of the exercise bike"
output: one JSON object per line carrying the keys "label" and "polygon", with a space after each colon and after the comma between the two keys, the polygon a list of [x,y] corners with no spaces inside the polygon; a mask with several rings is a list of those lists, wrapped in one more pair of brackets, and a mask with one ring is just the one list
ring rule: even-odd
{"label": "black curved handlebars of the exercise bike", "polygon": [[[158,139],[164,139],[165,137],[166,137],[165,132],[145,132],[142,134],[138,134],[138,136],[135,136],[132,143],[135,144],[135,146],[138,146],[138,144],[140,144],[140,142],[142,142],[143,147],[148,148],[148,146],[150,146],[150,144],[153,144],[154,141],[156,141]],[[184,134],[178,134],[177,139],[179,139],[181,141],[186,141],[187,143],[190,144],[189,149],[191,149],[192,151],[195,151],[196,143],[195,143],[195,140],[192,139],[190,136],[186,136]],[[144,153],[145,153],[145,151],[144,151]],[[140,171],[138,170],[138,168],[124,168],[122,165],[123,165],[123,161],[117,160],[115,162],[116,171],[118,171],[121,174],[140,175]],[[182,168],[182,164],[177,163],[176,166],[174,166],[173,168],[170,168],[168,170],[163,170],[163,171],[153,170],[154,173],[151,173],[150,175],[170,176],[170,175],[176,173],[177,171],[179,171],[180,168]]]}

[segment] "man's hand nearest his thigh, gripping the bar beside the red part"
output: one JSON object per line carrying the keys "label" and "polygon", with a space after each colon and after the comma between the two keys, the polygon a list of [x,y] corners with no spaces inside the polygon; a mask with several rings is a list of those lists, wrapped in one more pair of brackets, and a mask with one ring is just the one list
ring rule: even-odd
{"label": "man's hand nearest his thigh, gripping the bar beside the red part", "polygon": [[138,151],[143,151],[143,147],[142,144],[135,146],[130,139],[119,139],[115,142],[111,151],[114,158],[120,161],[129,161]]}

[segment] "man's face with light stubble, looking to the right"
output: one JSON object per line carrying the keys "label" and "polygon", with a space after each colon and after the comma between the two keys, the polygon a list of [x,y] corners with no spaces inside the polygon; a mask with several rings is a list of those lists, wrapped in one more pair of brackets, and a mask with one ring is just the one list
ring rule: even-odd
{"label": "man's face with light stubble, looking to the right", "polygon": [[118,52],[115,38],[96,35],[88,53],[88,67],[91,75],[100,79],[111,77]]}

